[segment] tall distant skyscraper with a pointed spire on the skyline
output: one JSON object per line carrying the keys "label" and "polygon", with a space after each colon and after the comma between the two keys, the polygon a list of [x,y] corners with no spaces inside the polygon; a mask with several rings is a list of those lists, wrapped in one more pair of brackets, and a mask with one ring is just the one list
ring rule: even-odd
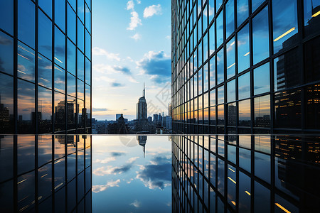
{"label": "tall distant skyscraper with a pointed spire on the skyline", "polygon": [[146,90],[144,88],[142,97],[139,98],[137,103],[137,131],[147,131],[147,104],[146,104]]}

